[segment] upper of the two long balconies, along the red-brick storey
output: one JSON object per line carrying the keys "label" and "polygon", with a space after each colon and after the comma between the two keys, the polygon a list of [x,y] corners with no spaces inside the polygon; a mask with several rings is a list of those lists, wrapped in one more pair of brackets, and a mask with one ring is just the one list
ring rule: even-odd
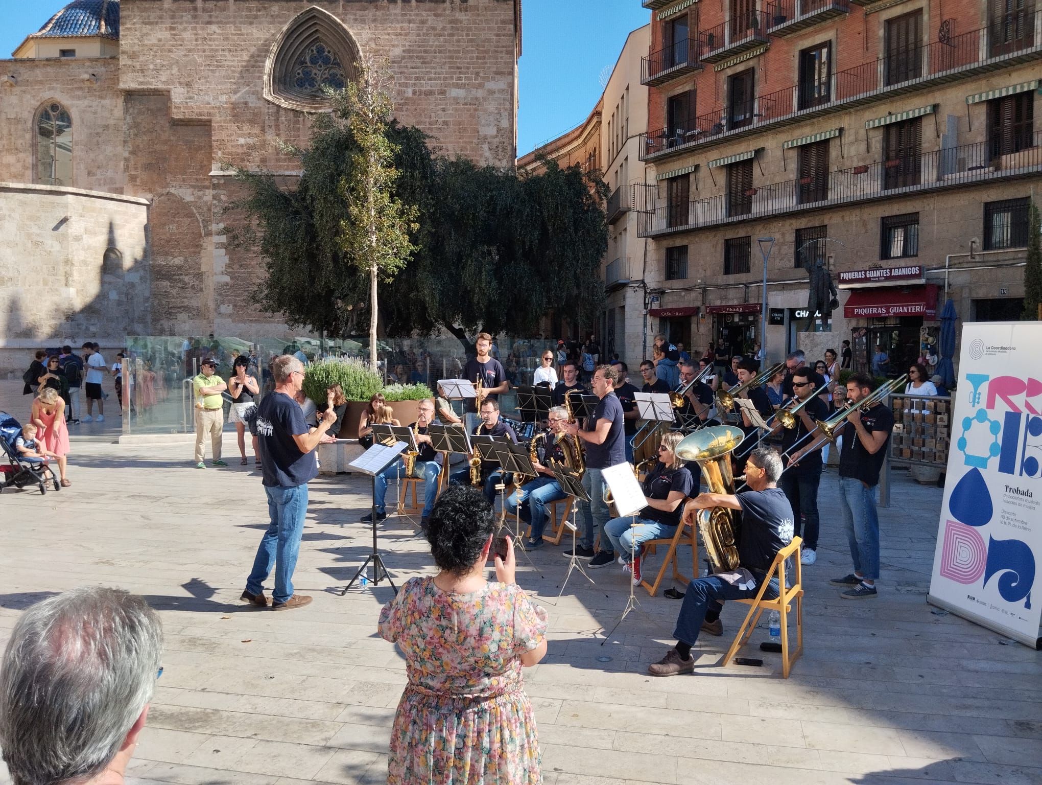
{"label": "upper of the two long balconies, along the red-brick storey", "polygon": [[[1042,58],[1042,45],[1036,43],[1035,36],[1035,30],[1042,29],[1040,15],[1042,10],[1026,15],[1018,25],[982,27],[931,42],[905,50],[899,57],[879,57],[834,73],[823,82],[793,84],[758,96],[751,122],[743,121],[741,125],[729,123],[727,107],[720,105],[699,115],[683,133],[666,128],[648,131],[641,138],[641,161],[667,161],[696,148],[706,149],[766,128],[791,125]],[[703,49],[704,46],[703,43]]]}

